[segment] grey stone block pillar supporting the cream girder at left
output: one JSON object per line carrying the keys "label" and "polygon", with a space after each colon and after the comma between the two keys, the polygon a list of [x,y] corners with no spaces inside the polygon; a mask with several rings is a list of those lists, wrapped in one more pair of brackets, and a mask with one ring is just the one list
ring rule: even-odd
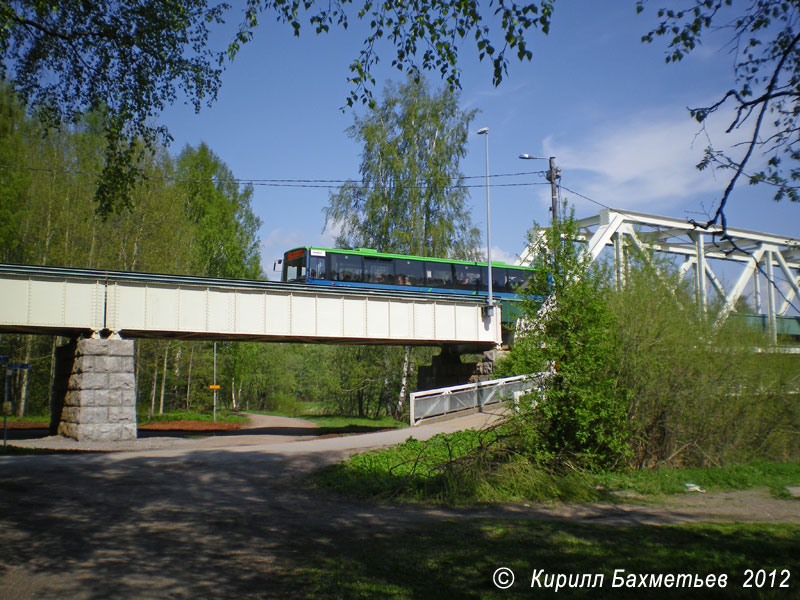
{"label": "grey stone block pillar supporting the cream girder at left", "polygon": [[58,433],[82,441],[136,439],[132,340],[78,340]]}

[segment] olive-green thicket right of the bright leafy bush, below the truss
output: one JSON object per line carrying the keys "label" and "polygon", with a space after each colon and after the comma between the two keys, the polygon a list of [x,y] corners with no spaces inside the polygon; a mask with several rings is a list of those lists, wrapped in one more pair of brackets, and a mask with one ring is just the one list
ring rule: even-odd
{"label": "olive-green thicket right of the bright leafy bush, below the truss", "polygon": [[796,458],[800,406],[789,394],[796,360],[754,353],[769,345],[760,332],[733,320],[716,329],[698,317],[674,268],[660,265],[656,275],[645,265],[609,299],[634,466]]}

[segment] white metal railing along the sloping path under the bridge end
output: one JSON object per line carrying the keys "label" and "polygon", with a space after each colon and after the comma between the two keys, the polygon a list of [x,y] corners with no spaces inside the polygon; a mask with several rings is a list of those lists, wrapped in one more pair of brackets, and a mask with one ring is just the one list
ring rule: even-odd
{"label": "white metal railing along the sloping path under the bridge end", "polygon": [[539,389],[542,373],[517,375],[478,383],[454,385],[435,390],[412,392],[411,425],[425,419],[482,408],[489,404],[518,401],[524,394]]}

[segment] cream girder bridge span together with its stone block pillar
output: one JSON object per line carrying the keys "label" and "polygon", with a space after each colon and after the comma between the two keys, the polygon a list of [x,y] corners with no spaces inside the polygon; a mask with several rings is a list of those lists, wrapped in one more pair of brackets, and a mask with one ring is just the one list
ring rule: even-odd
{"label": "cream girder bridge span together with its stone block pillar", "polygon": [[[497,347],[501,311],[447,294],[0,265],[0,332],[60,335],[52,433],[136,437],[134,338]],[[77,339],[81,338],[81,339]],[[455,358],[454,358],[455,357]]]}

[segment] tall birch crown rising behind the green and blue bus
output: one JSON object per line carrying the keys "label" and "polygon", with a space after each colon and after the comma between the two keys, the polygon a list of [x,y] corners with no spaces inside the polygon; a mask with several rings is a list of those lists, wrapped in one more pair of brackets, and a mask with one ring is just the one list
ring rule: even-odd
{"label": "tall birch crown rising behind the green and blue bus", "polygon": [[465,206],[459,161],[476,111],[425,80],[389,84],[348,135],[363,144],[361,181],[330,196],[325,227],[337,244],[420,256],[475,257],[478,230]]}

